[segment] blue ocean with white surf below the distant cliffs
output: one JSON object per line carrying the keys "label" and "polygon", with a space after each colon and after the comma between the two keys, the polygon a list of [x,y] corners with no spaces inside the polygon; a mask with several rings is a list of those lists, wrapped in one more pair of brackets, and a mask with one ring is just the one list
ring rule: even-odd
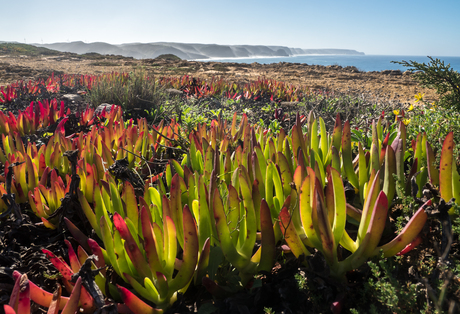
{"label": "blue ocean with white surf below the distant cliffs", "polygon": [[[460,57],[436,57],[444,61],[445,65],[450,63],[450,67],[456,71],[460,71]],[[430,62],[428,57],[424,56],[385,56],[385,55],[298,55],[293,57],[254,57],[254,58],[232,58],[232,59],[206,59],[200,61],[216,61],[216,62],[237,62],[237,63],[253,63],[270,64],[278,62],[291,63],[306,63],[309,65],[340,65],[342,67],[355,66],[360,71],[383,71],[383,70],[401,70],[406,71],[407,68],[391,63],[391,61],[417,61]]]}

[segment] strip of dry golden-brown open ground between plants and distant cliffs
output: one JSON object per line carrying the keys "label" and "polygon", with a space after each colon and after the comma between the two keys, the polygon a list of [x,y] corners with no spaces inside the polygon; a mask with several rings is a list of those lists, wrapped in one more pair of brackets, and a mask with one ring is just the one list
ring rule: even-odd
{"label": "strip of dry golden-brown open ground between plants and distant cliffs", "polygon": [[102,74],[130,72],[143,67],[149,75],[199,78],[224,77],[237,83],[247,83],[265,77],[312,90],[338,91],[347,95],[370,94],[374,99],[414,102],[414,95],[424,93],[426,101],[437,99],[434,90],[421,88],[409,72],[362,72],[356,67],[336,65],[320,66],[301,63],[240,64],[198,62],[184,60],[158,60],[132,58],[107,58],[88,60],[74,55],[62,56],[0,56],[0,86],[17,80],[47,78],[55,74]]}

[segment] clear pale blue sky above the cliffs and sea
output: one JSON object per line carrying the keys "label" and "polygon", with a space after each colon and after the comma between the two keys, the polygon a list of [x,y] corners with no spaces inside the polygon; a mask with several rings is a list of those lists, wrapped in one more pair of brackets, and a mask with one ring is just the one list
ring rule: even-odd
{"label": "clear pale blue sky above the cliffs and sea", "polygon": [[0,0],[0,41],[183,42],[460,56],[460,0]]}

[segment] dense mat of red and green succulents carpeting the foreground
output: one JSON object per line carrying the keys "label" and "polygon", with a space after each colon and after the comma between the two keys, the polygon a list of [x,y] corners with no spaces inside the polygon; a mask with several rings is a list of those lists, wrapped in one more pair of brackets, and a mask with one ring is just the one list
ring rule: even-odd
{"label": "dense mat of red and green succulents carpeting the foreground", "polygon": [[[407,276],[420,278],[424,254],[438,250],[447,267],[458,256],[453,133],[436,154],[426,134],[409,141],[404,113],[378,114],[364,130],[340,114],[327,127],[313,111],[283,107],[272,111],[278,127],[222,111],[184,127],[172,117],[125,121],[126,104],[96,112],[56,100],[65,88],[91,94],[129,80],[62,76],[2,89],[7,313],[340,312],[379,260],[415,259]],[[184,102],[305,100],[269,80],[241,90],[189,77],[158,84]],[[322,291],[326,305],[315,300]]]}

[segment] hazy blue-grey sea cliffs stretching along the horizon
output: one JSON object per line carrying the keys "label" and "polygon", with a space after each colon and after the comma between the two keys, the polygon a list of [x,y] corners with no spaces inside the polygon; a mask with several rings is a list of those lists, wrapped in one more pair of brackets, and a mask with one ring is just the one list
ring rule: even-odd
{"label": "hazy blue-grey sea cliffs stretching along the horizon", "polygon": [[121,55],[136,59],[151,59],[164,54],[173,54],[185,60],[289,57],[308,54],[364,55],[363,52],[351,49],[302,49],[284,46],[185,44],[169,42],[112,45],[104,42],[84,43],[82,41],[74,41],[32,45],[61,52],[73,52],[77,54],[96,52],[103,55]]}

